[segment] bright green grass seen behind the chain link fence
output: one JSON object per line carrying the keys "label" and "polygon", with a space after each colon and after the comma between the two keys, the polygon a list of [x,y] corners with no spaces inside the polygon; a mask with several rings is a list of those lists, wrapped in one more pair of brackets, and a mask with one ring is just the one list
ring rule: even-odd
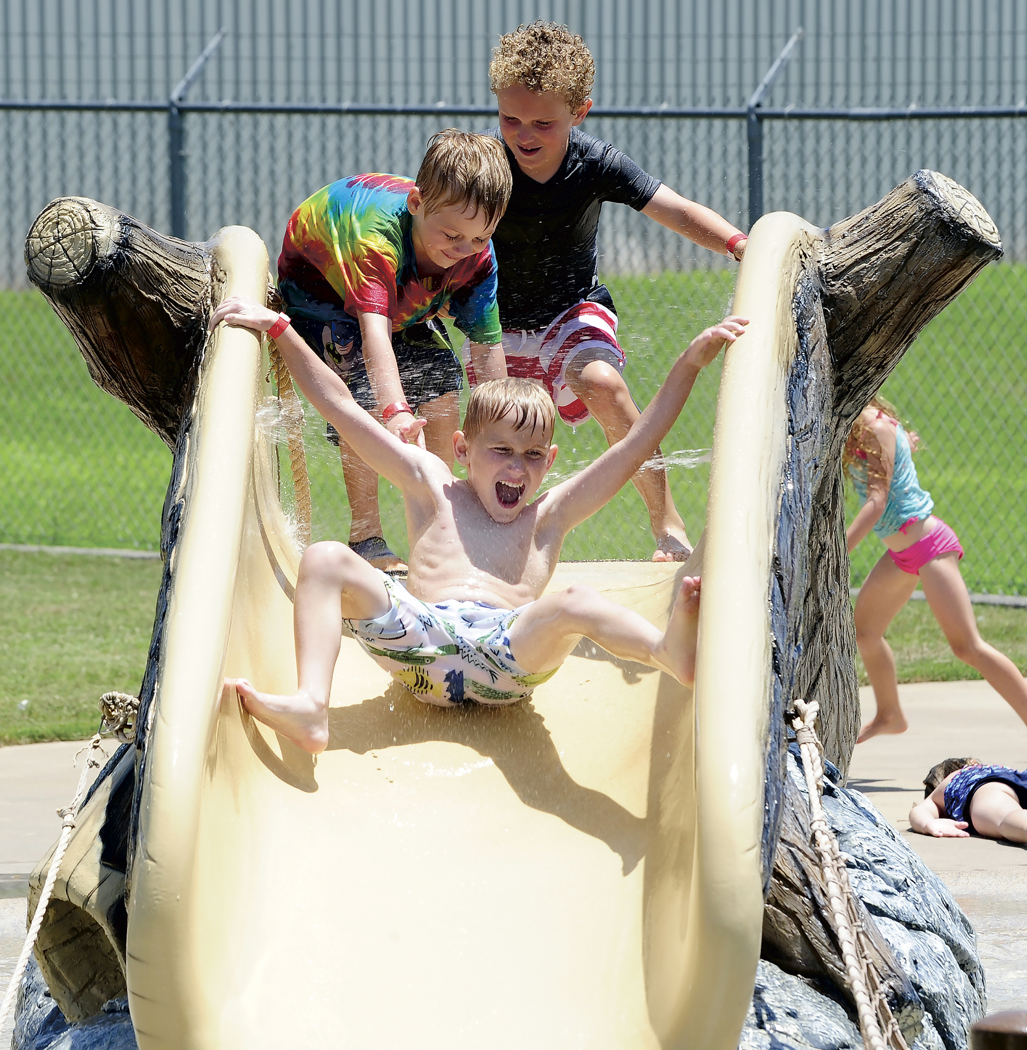
{"label": "bright green grass seen behind the chain link fence", "polygon": [[[645,403],[688,339],[728,310],[727,270],[609,278],[628,354],[625,377]],[[992,266],[910,348],[885,393],[924,439],[917,455],[938,513],[966,548],[971,590],[1027,593],[1021,522],[1027,502],[1027,266]],[[718,365],[709,370],[664,443],[708,448]],[[312,414],[311,414],[312,415]],[[349,512],[334,448],[308,423],[315,538],[347,533]],[[558,427],[557,470],[605,447],[594,422]],[[682,457],[687,460],[688,457]],[[131,413],[99,391],[42,296],[0,292],[0,542],[155,549],[170,455]],[[706,512],[708,466],[671,469],[675,502],[694,538]],[[851,508],[854,509],[854,508]],[[405,552],[397,494],[382,484],[386,538]],[[565,556],[648,558],[645,509],[630,487],[572,533]],[[859,583],[880,554],[867,541],[853,560]]]}

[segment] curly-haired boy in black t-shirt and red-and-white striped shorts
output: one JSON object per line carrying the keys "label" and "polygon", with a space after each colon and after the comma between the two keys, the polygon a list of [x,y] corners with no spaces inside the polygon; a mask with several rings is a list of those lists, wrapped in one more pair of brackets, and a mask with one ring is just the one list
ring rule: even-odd
{"label": "curly-haired boy in black t-shirt and red-and-white striped shorts", "polygon": [[[592,106],[595,65],[566,26],[540,21],[506,34],[488,72],[500,125],[486,134],[503,140],[514,174],[509,206],[492,234],[507,372],[544,383],[564,422],[595,416],[613,444],[640,412],[621,375],[613,300],[598,284],[603,202],[630,205],[738,259],[746,235],[580,130]],[[468,378],[474,384],[473,370]],[[666,474],[648,468],[632,480],[656,538],[653,561],[684,561],[692,545]]]}

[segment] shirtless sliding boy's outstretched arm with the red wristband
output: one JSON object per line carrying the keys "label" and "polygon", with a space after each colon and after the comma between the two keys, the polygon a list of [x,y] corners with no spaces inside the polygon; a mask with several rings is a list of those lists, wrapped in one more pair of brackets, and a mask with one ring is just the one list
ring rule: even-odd
{"label": "shirtless sliding boy's outstretched arm with the red wristband", "polygon": [[[226,299],[210,318],[210,331],[225,321],[233,328],[267,332],[278,315],[252,299]],[[397,438],[353,400],[345,383],[307,345],[290,324],[275,340],[296,385],[322,418],[327,419],[356,454],[404,496],[424,485],[437,457]]]}

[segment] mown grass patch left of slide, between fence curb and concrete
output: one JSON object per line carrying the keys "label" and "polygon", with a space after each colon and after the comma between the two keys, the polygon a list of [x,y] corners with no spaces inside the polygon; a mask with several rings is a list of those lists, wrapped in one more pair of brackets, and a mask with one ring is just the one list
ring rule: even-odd
{"label": "mown grass patch left of slide, between fence curb and concrete", "polygon": [[161,569],[0,550],[0,744],[90,736],[104,693],[139,692]]}

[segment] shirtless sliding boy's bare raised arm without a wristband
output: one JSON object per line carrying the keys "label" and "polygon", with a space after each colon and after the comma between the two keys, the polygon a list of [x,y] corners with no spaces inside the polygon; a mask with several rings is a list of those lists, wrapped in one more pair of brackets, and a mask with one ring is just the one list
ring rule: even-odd
{"label": "shirtless sliding boy's bare raised arm without a wristband", "polygon": [[623,441],[611,445],[581,474],[568,478],[547,494],[546,517],[566,536],[575,525],[595,513],[627,484],[680,415],[692,386],[720,352],[745,334],[745,317],[728,317],[699,333],[674,362],[649,406],[635,420]]}

